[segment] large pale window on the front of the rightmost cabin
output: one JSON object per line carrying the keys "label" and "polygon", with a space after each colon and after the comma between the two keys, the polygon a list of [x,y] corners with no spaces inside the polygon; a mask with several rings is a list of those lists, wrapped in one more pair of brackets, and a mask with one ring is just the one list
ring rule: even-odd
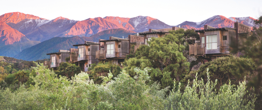
{"label": "large pale window on the front of the rightmost cabin", "polygon": [[217,49],[217,35],[206,36],[206,49]]}

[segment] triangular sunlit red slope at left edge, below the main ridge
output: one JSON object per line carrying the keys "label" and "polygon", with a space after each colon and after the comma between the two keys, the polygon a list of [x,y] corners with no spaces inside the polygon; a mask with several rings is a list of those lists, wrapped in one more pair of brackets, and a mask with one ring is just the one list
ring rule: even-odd
{"label": "triangular sunlit red slope at left edge, below the main ridge", "polygon": [[0,21],[0,45],[10,45],[30,41],[21,32]]}

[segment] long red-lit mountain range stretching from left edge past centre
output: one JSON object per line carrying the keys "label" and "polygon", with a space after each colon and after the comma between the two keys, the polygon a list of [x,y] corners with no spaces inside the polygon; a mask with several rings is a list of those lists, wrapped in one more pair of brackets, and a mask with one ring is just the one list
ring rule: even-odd
{"label": "long red-lit mountain range stretching from left edge past centre", "polygon": [[12,12],[1,15],[0,20],[24,34],[29,40],[41,42],[53,37],[89,37],[109,29],[123,28],[134,32],[144,32],[149,28],[163,29],[172,27],[158,19],[147,16],[134,18],[97,17],[75,21],[63,17],[47,20],[30,14]]}

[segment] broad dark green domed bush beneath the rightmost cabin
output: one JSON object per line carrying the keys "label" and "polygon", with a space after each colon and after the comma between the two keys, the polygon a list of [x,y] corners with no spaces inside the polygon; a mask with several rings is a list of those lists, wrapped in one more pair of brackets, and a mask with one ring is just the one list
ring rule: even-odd
{"label": "broad dark green domed bush beneath the rightmost cabin", "polygon": [[[192,81],[196,73],[199,74],[199,79],[207,79],[205,72],[207,68],[209,68],[211,72],[210,80],[214,82],[217,79],[217,86],[220,87],[223,84],[228,84],[229,80],[231,80],[232,84],[238,85],[238,82],[244,81],[245,77],[249,79],[257,67],[255,62],[250,58],[240,58],[232,55],[220,57],[213,61],[206,62],[195,71],[191,71],[190,74],[185,76],[181,83],[186,84],[188,80]],[[206,80],[204,81],[206,82]]]}

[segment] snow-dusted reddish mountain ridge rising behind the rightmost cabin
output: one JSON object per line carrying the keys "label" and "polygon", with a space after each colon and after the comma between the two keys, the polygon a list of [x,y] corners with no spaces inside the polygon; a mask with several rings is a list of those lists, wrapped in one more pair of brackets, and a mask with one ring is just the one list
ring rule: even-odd
{"label": "snow-dusted reddish mountain ridge rising behind the rightmost cabin", "polygon": [[[213,17],[210,17],[204,21],[201,22],[190,22],[190,21],[185,21],[183,23],[180,23],[180,27],[181,28],[185,28],[185,29],[204,29],[204,25],[210,25],[212,27],[215,28],[224,28],[224,27],[228,27],[228,28],[233,28],[234,27],[234,23],[236,21],[243,23],[245,25],[248,25],[250,27],[253,26],[253,20],[255,20],[252,17],[242,17],[242,18],[235,18],[235,17],[230,17],[230,18],[226,18],[224,16],[221,15],[216,15]],[[179,25],[176,25],[177,27]]]}

